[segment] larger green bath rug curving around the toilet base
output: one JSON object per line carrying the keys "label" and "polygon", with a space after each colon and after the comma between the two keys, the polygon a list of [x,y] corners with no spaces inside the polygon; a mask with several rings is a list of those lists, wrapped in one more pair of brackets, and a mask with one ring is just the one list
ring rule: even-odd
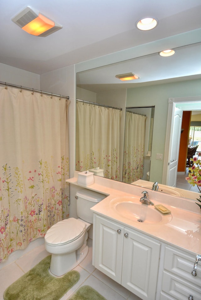
{"label": "larger green bath rug curving around the toilet base", "polygon": [[79,280],[78,271],[57,278],[49,273],[51,255],[11,284],[4,300],[59,300]]}

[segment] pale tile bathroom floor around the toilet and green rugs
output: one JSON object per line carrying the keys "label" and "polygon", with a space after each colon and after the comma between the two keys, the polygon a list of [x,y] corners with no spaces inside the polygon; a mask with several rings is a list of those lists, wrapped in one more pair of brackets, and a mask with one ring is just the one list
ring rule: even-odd
{"label": "pale tile bathroom floor around the toilet and green rugs", "polygon": [[[33,242],[32,242],[33,243]],[[92,265],[92,240],[88,239],[89,253],[75,270],[79,271],[80,279],[61,300],[69,299],[76,290],[89,285],[99,292],[107,300],[141,300],[139,297],[129,292],[127,289],[111,280],[109,277],[95,269]],[[19,250],[22,251],[22,250]],[[14,254],[14,253],[12,253]],[[12,255],[11,254],[11,255]],[[45,258],[49,253],[45,250],[44,243],[31,249],[15,261],[3,266],[0,269],[0,300],[3,300],[5,289],[17,280],[24,273],[33,268],[39,261]],[[42,299],[41,299],[42,300]],[[92,300],[92,299],[90,299]]]}

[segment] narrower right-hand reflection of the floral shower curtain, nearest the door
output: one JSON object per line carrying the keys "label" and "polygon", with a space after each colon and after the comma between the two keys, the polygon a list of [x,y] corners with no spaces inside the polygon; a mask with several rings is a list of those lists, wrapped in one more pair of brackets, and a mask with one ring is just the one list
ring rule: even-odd
{"label": "narrower right-hand reflection of the floral shower curtain, nearest the door", "polygon": [[143,177],[143,156],[146,116],[126,112],[123,182],[132,183]]}

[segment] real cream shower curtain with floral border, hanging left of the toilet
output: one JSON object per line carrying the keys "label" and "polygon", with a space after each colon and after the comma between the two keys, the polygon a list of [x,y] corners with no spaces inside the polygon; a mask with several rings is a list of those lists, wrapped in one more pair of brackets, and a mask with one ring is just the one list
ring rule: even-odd
{"label": "real cream shower curtain with floral border, hanging left of the toilet", "polygon": [[0,262],[68,218],[68,104],[0,87]]}

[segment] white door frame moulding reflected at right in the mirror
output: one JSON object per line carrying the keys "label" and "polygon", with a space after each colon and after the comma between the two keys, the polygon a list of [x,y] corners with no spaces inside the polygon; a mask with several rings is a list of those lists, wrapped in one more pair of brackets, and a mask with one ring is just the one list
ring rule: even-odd
{"label": "white door frame moulding reflected at right in the mirror", "polygon": [[174,107],[182,109],[183,111],[201,110],[201,96],[198,97],[179,97],[168,99],[168,113],[166,126],[166,141],[163,161],[163,175],[162,184],[167,184],[168,178],[168,164],[170,161],[170,146],[173,130]]}

